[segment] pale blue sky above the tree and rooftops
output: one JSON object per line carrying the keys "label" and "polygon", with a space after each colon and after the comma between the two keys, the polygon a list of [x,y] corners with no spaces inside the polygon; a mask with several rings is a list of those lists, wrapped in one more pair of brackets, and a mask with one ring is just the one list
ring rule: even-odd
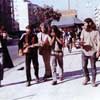
{"label": "pale blue sky above the tree and rooftops", "polygon": [[[55,10],[67,10],[68,0],[30,0],[34,4],[40,6],[53,6]],[[94,17],[94,9],[100,5],[100,0],[70,0],[70,8],[76,9],[78,17],[85,19],[86,17]]]}

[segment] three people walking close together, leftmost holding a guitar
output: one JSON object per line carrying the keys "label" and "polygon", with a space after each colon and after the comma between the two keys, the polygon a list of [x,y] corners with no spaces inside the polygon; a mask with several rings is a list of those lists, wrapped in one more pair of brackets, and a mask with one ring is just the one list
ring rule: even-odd
{"label": "three people walking close together, leftmost holding a guitar", "polygon": [[32,33],[31,26],[28,25],[26,27],[26,33],[22,35],[19,41],[19,54],[25,55],[27,86],[31,85],[31,60],[35,70],[36,81],[39,82],[38,50],[45,65],[43,80],[46,81],[47,78],[53,77],[52,85],[57,84],[57,62],[61,69],[60,79],[63,79],[62,34],[57,26],[51,27],[51,36],[48,34],[46,24],[42,23],[40,28],[41,32],[35,35]]}

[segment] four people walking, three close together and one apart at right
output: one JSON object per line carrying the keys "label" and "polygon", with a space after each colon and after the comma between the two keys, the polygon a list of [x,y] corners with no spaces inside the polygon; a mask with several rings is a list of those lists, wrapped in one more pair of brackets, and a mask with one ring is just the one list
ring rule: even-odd
{"label": "four people walking, three close together and one apart at right", "polygon": [[[60,81],[64,79],[63,66],[63,47],[65,41],[63,33],[56,25],[51,26],[51,33],[48,34],[48,26],[45,23],[40,25],[40,32],[34,34],[32,27],[28,25],[26,32],[22,34],[19,40],[19,55],[25,55],[25,69],[27,86],[31,85],[31,61],[34,67],[36,82],[39,83],[39,62],[38,54],[43,58],[45,73],[43,80],[46,81],[52,77],[52,85],[57,84],[57,78]],[[0,35],[1,36],[1,35]],[[100,34],[91,18],[84,20],[83,30],[81,32],[79,44],[82,48],[82,68],[84,73],[83,85],[90,81],[87,68],[88,59],[91,62],[92,86],[96,86],[96,60],[100,55]],[[0,37],[0,40],[1,37]],[[57,64],[59,64],[59,77],[57,77]]]}

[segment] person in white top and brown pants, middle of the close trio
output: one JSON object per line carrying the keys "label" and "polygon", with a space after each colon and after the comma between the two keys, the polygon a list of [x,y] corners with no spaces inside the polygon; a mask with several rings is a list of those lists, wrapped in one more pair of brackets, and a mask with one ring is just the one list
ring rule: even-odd
{"label": "person in white top and brown pants, middle of the close trio", "polygon": [[46,24],[42,23],[40,25],[41,32],[38,33],[38,43],[40,44],[39,54],[43,57],[45,65],[45,74],[43,79],[46,80],[52,76],[51,66],[50,66],[50,36],[48,34],[48,27]]}

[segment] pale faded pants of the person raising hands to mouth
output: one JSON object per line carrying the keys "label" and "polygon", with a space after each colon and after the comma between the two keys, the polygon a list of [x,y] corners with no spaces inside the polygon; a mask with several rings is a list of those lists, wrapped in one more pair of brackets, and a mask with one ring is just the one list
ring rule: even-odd
{"label": "pale faded pants of the person raising hands to mouth", "polygon": [[63,77],[63,55],[51,55],[51,69],[53,81],[57,81],[57,63],[59,64],[59,76]]}

